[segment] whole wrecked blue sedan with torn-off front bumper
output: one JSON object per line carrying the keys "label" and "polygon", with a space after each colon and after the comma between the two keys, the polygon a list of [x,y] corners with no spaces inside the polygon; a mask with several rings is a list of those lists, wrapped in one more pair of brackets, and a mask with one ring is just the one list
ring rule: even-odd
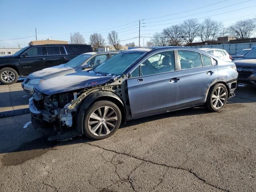
{"label": "whole wrecked blue sedan with torn-off front bumper", "polygon": [[45,80],[29,100],[34,128],[48,140],[104,139],[121,121],[184,108],[221,110],[234,96],[233,62],[194,48],[136,48],[96,68]]}

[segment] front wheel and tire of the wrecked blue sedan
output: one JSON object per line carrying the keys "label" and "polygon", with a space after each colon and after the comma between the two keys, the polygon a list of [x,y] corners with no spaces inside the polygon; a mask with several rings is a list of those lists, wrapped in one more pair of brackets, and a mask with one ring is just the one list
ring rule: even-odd
{"label": "front wheel and tire of the wrecked blue sedan", "polygon": [[85,111],[84,134],[93,140],[112,136],[121,124],[122,114],[116,104],[108,100],[97,101]]}

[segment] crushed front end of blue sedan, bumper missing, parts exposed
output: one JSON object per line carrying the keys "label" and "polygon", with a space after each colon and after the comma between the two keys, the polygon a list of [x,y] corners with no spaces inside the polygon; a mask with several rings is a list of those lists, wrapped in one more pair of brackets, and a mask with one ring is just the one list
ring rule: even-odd
{"label": "crushed front end of blue sedan, bumper missing, parts exposed", "polygon": [[[65,108],[65,105],[76,99],[76,92],[64,92],[55,95],[45,95],[34,89],[32,98],[29,99],[31,121],[35,129],[41,129],[46,134],[52,135],[49,140],[64,140],[55,138],[57,134],[73,132],[70,138],[79,135],[74,128],[73,117],[76,109]],[[52,139],[51,139],[52,138]]]}

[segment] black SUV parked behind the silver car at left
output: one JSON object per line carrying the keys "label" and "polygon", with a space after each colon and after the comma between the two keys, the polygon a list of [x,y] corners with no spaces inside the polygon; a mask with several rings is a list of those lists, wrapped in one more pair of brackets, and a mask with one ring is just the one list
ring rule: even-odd
{"label": "black SUV parked behind the silver car at left", "polygon": [[0,82],[14,84],[18,76],[60,64],[86,52],[92,52],[90,45],[84,44],[47,44],[27,46],[12,56],[0,58]]}

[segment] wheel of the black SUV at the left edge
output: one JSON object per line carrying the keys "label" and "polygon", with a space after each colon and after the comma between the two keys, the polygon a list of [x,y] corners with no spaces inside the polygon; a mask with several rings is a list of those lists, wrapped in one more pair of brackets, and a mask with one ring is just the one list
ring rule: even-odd
{"label": "wheel of the black SUV at the left edge", "polygon": [[18,81],[18,73],[13,68],[2,68],[0,70],[0,82],[4,85],[14,84]]}

